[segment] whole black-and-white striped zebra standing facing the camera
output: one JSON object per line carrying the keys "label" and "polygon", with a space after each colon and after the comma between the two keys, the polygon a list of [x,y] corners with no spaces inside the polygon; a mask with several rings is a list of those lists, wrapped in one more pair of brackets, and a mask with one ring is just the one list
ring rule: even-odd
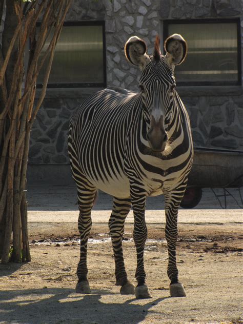
{"label": "whole black-and-white striped zebra standing facing the camera", "polygon": [[[151,298],[144,269],[145,206],[148,196],[164,194],[170,295],[186,296],[176,267],[177,213],[192,166],[193,144],[190,120],[175,90],[174,68],[184,61],[187,43],[181,35],[173,34],[164,47],[166,54],[162,55],[156,36],[154,53],[148,55],[146,42],[130,37],[125,55],[141,71],[140,92],[104,89],[87,98],[71,117],[68,151],[77,186],[80,233],[77,293],[91,292],[87,242],[91,209],[99,189],[113,196],[109,231],[120,293]],[[122,247],[125,219],[131,207],[137,254],[136,288],[128,280]]]}

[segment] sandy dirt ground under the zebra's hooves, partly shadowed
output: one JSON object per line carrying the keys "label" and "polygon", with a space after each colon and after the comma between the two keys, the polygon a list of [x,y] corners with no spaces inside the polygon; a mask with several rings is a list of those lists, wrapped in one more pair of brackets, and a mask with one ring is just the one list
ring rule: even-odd
{"label": "sandy dirt ground under the zebra's hooves, partly shadowed", "polygon": [[[187,297],[170,298],[164,224],[148,224],[151,299],[119,294],[106,224],[94,224],[88,250],[92,294],[75,294],[75,223],[30,223],[32,261],[0,265],[0,323],[242,323],[242,224],[179,224],[177,261]],[[135,284],[132,224],[124,254]]]}

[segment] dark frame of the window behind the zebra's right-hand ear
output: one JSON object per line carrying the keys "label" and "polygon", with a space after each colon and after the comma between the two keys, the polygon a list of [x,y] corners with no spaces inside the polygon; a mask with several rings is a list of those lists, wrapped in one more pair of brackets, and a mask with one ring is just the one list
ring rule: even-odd
{"label": "dark frame of the window behind the zebra's right-hand ear", "polygon": [[205,19],[167,19],[163,21],[163,38],[164,42],[166,38],[169,36],[169,25],[178,25],[178,24],[218,24],[218,23],[225,23],[225,24],[232,24],[236,23],[236,33],[237,33],[237,70],[238,70],[238,77],[237,81],[216,81],[216,82],[206,82],[206,81],[195,81],[195,82],[178,82],[178,87],[207,87],[207,86],[241,86],[241,79],[242,79],[242,67],[241,67],[241,34],[240,34],[240,17],[236,18],[205,18]]}

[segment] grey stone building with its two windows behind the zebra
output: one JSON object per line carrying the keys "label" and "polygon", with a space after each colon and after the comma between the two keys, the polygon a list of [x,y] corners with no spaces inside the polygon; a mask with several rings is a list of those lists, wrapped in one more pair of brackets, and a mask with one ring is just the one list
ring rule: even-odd
{"label": "grey stone building with its two windows behind the zebra", "polygon": [[69,119],[88,95],[138,91],[139,70],[124,55],[132,35],[145,39],[149,54],[157,34],[161,51],[169,34],[185,37],[188,57],[175,76],[195,147],[243,151],[242,13],[242,0],[74,0],[31,132],[30,174],[69,174]]}

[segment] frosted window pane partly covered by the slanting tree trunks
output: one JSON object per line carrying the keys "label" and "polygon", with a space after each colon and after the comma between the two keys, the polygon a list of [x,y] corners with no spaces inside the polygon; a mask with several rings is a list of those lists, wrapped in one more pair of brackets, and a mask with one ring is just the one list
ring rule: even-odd
{"label": "frosted window pane partly covered by the slanting tree trunks", "polygon": [[[43,53],[48,45],[47,42]],[[64,23],[55,49],[48,88],[105,87],[105,49],[104,22]],[[43,77],[40,71],[37,87],[42,87]]]}

